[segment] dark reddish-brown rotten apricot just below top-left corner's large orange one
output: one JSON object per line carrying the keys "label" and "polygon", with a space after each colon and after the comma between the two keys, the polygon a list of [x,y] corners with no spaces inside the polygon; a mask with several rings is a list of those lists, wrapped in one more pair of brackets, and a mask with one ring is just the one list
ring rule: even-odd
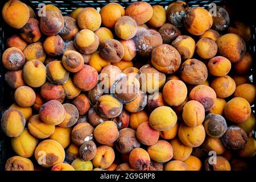
{"label": "dark reddish-brown rotten apricot just below top-left corner's large orange one", "polygon": [[20,36],[27,42],[37,42],[42,34],[40,32],[39,22],[34,18],[30,18],[24,27],[19,30]]}

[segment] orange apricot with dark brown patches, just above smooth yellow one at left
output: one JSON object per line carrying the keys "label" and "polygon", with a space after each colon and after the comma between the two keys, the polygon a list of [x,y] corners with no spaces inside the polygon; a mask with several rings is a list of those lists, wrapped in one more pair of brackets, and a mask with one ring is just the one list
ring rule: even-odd
{"label": "orange apricot with dark brown patches, just above smooth yellow one at left", "polygon": [[23,50],[23,53],[26,61],[36,59],[44,63],[44,61],[46,60],[46,52],[44,52],[43,44],[40,42],[29,44]]}

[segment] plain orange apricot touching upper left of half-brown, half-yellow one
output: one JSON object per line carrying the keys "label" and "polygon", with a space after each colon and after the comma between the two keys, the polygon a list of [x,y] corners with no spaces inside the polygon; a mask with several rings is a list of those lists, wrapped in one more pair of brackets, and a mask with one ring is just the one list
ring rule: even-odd
{"label": "plain orange apricot touching upper left of half-brown, half-yellow one", "polygon": [[114,28],[115,22],[125,15],[125,9],[118,3],[108,3],[100,10],[102,25],[108,28]]}

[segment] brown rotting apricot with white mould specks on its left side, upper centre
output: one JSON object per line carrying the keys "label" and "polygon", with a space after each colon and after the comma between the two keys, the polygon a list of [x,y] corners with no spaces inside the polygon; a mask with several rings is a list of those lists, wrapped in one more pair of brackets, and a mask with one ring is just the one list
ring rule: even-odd
{"label": "brown rotting apricot with white mould specks on its left side, upper centre", "polygon": [[162,43],[161,35],[155,30],[141,31],[135,38],[137,53],[143,57],[151,56],[153,49]]}

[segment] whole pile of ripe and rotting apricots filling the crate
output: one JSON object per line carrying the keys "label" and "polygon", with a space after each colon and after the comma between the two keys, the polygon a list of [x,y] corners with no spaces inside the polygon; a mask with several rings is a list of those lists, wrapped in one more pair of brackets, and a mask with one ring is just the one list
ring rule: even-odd
{"label": "whole pile of ripe and rotting apricots filling the crate", "polygon": [[1,129],[16,153],[5,170],[255,165],[251,32],[225,7],[216,16],[182,1],[70,16],[45,8],[42,16],[10,0],[2,9],[15,32],[2,55],[14,102]]}

